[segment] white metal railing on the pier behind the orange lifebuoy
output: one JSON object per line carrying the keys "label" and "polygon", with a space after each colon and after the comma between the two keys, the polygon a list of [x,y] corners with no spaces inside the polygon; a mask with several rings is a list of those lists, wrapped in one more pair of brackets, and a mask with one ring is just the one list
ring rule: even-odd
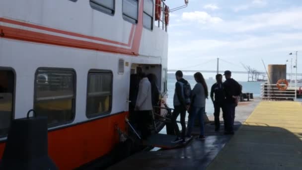
{"label": "white metal railing on the pier behind the orange lifebuoy", "polygon": [[[284,87],[285,85],[281,85]],[[281,90],[276,84],[262,84],[261,85],[261,99],[265,100],[296,100],[297,89],[295,84],[288,85],[287,89]],[[294,87],[294,88],[292,88]]]}

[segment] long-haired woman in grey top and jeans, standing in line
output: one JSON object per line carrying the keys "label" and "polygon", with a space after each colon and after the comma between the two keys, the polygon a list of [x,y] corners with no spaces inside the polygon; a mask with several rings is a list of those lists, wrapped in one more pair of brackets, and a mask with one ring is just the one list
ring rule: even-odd
{"label": "long-haired woman in grey top and jeans, standing in line", "polygon": [[196,85],[191,92],[191,113],[188,122],[187,136],[191,137],[195,118],[198,117],[200,124],[200,135],[198,139],[205,139],[205,129],[203,114],[205,113],[206,98],[208,98],[208,86],[203,75],[200,72],[194,74]]}

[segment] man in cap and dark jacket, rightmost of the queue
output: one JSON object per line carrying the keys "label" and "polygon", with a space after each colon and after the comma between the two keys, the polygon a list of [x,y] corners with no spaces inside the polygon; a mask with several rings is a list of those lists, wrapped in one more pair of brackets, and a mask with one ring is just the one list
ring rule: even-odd
{"label": "man in cap and dark jacket, rightmost of the queue", "polygon": [[226,95],[225,99],[225,134],[234,134],[234,119],[235,119],[235,107],[238,103],[238,96],[241,93],[241,88],[238,82],[231,79],[231,72],[225,71],[226,81],[224,82],[224,91]]}

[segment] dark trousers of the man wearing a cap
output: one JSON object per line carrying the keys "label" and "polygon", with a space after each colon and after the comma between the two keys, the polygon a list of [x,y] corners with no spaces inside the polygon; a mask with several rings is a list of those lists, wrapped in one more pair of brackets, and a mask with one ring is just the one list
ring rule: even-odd
{"label": "dark trousers of the man wearing a cap", "polygon": [[234,131],[234,119],[235,119],[235,107],[234,103],[225,104],[225,131],[233,132]]}

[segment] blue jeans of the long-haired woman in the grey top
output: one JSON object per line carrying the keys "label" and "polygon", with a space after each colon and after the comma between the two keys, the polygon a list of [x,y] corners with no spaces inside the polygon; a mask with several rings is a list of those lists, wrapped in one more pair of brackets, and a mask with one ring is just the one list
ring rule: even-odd
{"label": "blue jeans of the long-haired woman in the grey top", "polygon": [[203,114],[205,114],[205,107],[192,106],[192,113],[190,114],[190,119],[188,122],[187,136],[191,136],[196,116],[198,117],[199,124],[200,124],[200,135],[201,136],[205,135],[205,127],[204,127],[205,125],[204,125],[204,117],[203,117],[204,115]]}

